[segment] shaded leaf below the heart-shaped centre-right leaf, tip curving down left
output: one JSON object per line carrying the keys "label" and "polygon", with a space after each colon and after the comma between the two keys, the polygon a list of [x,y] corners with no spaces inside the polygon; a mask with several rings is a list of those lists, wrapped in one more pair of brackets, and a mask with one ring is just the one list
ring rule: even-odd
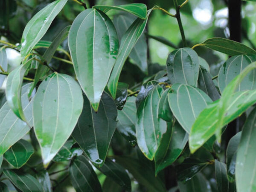
{"label": "shaded leaf below the heart-shaped centre-right leaf, tip curving down left", "polygon": [[172,132],[169,149],[160,161],[155,163],[156,174],[171,165],[181,154],[188,141],[189,135],[184,131],[178,122],[175,122]]}

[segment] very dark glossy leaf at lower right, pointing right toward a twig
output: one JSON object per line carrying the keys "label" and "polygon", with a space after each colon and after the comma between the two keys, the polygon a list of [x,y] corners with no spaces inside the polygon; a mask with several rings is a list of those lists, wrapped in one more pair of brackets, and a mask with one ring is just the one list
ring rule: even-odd
{"label": "very dark glossy leaf at lower right, pointing right toward a twig", "polygon": [[177,179],[183,183],[193,178],[198,172],[201,172],[209,162],[202,162],[197,159],[187,158],[183,163],[177,165],[175,170],[177,172]]}

